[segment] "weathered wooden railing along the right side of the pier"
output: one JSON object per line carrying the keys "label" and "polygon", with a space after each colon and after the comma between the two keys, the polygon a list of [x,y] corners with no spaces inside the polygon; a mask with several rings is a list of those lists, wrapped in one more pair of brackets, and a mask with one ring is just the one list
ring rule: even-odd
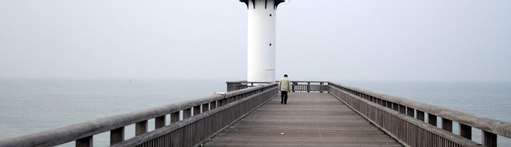
{"label": "weathered wooden railing along the right side of the pier", "polygon": [[[356,87],[329,85],[329,92],[339,100],[406,146],[480,146],[471,140],[472,128],[481,130],[484,146],[497,146],[497,135],[511,138],[509,122]],[[437,119],[441,119],[441,128]],[[459,135],[452,133],[453,122],[459,124]]]}

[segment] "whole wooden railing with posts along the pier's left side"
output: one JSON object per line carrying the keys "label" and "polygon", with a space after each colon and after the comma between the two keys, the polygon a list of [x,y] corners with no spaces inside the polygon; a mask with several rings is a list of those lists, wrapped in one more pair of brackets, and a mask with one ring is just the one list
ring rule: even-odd
{"label": "whole wooden railing with posts along the pier's left side", "polygon": [[[270,83],[3,139],[0,146],[54,146],[75,140],[76,146],[92,146],[93,136],[107,131],[112,146],[200,146],[277,93],[277,83]],[[149,119],[155,119],[151,132]],[[125,127],[132,124],[136,136],[125,140]]]}

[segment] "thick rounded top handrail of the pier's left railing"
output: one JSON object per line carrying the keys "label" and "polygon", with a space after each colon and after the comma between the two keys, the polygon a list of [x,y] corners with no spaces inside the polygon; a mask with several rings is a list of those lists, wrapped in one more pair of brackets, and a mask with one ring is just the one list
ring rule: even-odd
{"label": "thick rounded top handrail of the pier's left railing", "polygon": [[274,86],[277,83],[270,83],[267,85],[260,85],[246,89],[230,91],[223,95],[211,95],[202,97],[200,99],[179,102],[175,104],[168,104],[160,107],[154,107],[146,110],[135,111],[126,114],[114,115],[104,118],[99,118],[92,121],[82,122],[79,124],[69,125],[57,129],[41,131],[37,133],[22,135],[13,138],[0,140],[0,146],[54,146],[70,141],[78,140],[80,138],[100,134],[106,131],[111,131],[117,128],[125,127],[135,124],[140,121],[152,119],[159,116],[164,116],[170,113],[179,112],[181,110],[200,106],[210,102],[223,100],[228,97],[243,94],[250,91],[255,91],[264,87]]}

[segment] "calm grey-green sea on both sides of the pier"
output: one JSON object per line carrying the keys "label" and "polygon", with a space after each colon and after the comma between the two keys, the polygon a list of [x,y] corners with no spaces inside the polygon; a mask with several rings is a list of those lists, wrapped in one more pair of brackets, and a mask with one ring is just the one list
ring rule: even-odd
{"label": "calm grey-green sea on both sides of the pier", "polygon": [[[223,80],[0,79],[0,139],[225,92]],[[332,81],[511,122],[511,82]],[[292,101],[292,98],[290,98]],[[149,120],[154,130],[154,120]],[[453,125],[457,134],[457,124]],[[134,125],[125,138],[134,137]],[[473,140],[481,142],[473,129]],[[109,132],[94,136],[108,146]],[[74,146],[74,142],[59,146]],[[511,146],[499,136],[498,146]]]}

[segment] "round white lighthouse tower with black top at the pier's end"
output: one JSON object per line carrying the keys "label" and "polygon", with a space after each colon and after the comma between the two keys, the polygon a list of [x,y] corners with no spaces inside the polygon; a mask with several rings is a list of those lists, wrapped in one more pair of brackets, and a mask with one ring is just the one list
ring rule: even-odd
{"label": "round white lighthouse tower with black top at the pier's end", "polygon": [[275,17],[285,0],[240,0],[248,8],[248,82],[275,81]]}

